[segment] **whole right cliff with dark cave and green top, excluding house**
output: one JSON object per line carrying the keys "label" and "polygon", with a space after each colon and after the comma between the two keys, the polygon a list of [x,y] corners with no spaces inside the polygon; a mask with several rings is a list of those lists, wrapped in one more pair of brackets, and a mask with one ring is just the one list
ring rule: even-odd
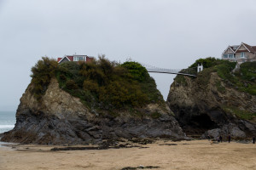
{"label": "whole right cliff with dark cave and green top, excluding house", "polygon": [[256,63],[245,63],[232,72],[234,66],[212,59],[198,77],[175,78],[167,105],[185,133],[204,138],[230,133],[236,139],[256,135]]}

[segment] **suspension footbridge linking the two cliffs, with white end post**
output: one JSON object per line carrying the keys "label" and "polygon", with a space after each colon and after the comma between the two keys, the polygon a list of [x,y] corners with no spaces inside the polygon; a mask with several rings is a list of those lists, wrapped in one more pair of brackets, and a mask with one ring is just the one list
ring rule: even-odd
{"label": "suspension footbridge linking the two cliffs, with white end post", "polygon": [[183,75],[183,76],[189,76],[189,77],[197,77],[197,73],[203,70],[202,65],[198,65],[197,67],[193,67],[189,69],[164,69],[164,68],[155,67],[152,65],[146,65],[136,60],[133,60],[131,58],[127,60],[131,62],[137,62],[143,65],[143,67],[145,67],[148,72],[155,72],[155,73],[176,74],[176,75]]}

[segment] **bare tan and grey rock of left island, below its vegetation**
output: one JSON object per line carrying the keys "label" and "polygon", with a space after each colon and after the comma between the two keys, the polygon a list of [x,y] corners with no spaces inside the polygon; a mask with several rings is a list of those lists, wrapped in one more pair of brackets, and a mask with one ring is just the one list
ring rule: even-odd
{"label": "bare tan and grey rock of left island, below its vegetation", "polygon": [[[128,111],[99,114],[59,88],[55,78],[39,101],[32,84],[20,99],[15,128],[3,134],[3,141],[33,144],[88,144],[102,139],[160,137],[184,139],[172,111],[150,104],[141,109],[145,116]],[[154,116],[154,114],[156,116]],[[148,116],[147,116],[148,115]],[[153,116],[152,116],[153,115]]]}

